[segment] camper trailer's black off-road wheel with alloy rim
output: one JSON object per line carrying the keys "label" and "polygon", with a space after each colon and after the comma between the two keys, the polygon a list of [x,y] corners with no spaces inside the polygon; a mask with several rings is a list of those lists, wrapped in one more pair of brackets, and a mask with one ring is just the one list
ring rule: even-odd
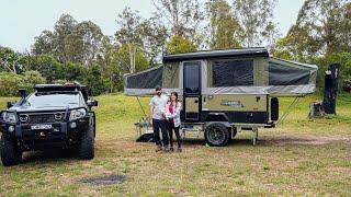
{"label": "camper trailer's black off-road wheel with alloy rim", "polygon": [[224,147],[230,139],[230,132],[228,128],[220,123],[214,123],[205,129],[205,140],[208,144],[215,147]]}

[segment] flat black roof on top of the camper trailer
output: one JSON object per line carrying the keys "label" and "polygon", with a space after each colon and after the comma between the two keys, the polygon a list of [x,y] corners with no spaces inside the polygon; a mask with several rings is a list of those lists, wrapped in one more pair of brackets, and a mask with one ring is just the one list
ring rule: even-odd
{"label": "flat black roof on top of the camper trailer", "polygon": [[212,59],[226,57],[269,57],[269,53],[263,47],[256,48],[236,48],[227,50],[203,50],[188,54],[174,54],[163,56],[163,62],[168,61],[184,61],[196,59]]}

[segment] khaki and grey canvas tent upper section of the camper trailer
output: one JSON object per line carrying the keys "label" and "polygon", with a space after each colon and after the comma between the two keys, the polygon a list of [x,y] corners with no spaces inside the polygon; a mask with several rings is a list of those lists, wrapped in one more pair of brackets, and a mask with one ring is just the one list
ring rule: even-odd
{"label": "khaki and grey canvas tent upper section of the camper trailer", "polygon": [[264,48],[199,51],[163,57],[163,65],[124,76],[126,95],[151,95],[156,86],[183,93],[184,68],[201,65],[201,93],[296,96],[316,89],[318,67],[269,57]]}

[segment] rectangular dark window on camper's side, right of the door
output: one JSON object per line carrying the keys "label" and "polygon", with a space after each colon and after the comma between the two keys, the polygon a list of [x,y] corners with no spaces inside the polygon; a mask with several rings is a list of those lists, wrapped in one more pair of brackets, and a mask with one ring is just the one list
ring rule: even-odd
{"label": "rectangular dark window on camper's side, right of the door", "polygon": [[253,60],[212,61],[213,86],[253,85]]}

